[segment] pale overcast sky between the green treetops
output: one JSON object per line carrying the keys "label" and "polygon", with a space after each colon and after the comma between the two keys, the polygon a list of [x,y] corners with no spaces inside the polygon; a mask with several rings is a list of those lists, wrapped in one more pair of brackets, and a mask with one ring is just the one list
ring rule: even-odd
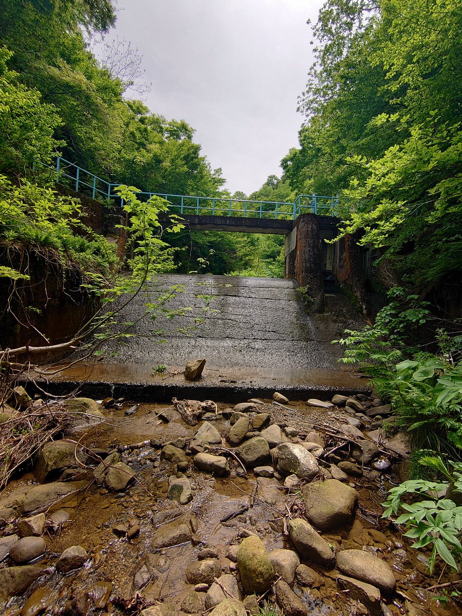
{"label": "pale overcast sky between the green treetops", "polygon": [[[250,193],[298,145],[297,97],[322,0],[118,0],[107,41],[143,56],[150,110],[196,129],[230,191]],[[155,189],[155,187],[153,187]]]}

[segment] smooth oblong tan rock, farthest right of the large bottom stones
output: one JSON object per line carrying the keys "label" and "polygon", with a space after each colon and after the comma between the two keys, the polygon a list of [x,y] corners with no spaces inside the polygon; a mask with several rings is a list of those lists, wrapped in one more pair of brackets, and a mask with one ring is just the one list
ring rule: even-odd
{"label": "smooth oblong tan rock, farthest right of the large bottom stones", "polygon": [[392,593],[396,582],[389,565],[374,554],[362,549],[344,549],[337,554],[337,567],[348,577],[376,586],[384,593]]}

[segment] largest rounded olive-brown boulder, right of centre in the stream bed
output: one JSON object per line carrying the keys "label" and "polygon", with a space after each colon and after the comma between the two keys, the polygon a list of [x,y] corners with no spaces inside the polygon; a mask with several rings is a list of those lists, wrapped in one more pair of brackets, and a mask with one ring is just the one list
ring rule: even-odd
{"label": "largest rounded olive-brown boulder, right of centre in the stream bed", "polygon": [[319,530],[330,530],[351,520],[358,493],[336,479],[313,482],[302,488],[307,519]]}

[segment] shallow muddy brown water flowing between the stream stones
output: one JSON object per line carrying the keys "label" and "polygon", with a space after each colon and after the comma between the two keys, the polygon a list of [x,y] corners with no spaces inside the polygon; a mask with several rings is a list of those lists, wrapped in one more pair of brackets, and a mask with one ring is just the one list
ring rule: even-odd
{"label": "shallow muddy brown water flowing between the stream stones", "polygon": [[[89,448],[108,450],[118,445],[139,444],[148,439],[158,439],[162,444],[176,439],[190,439],[197,431],[197,427],[187,426],[179,417],[173,416],[170,423],[161,423],[156,419],[156,414],[165,405],[141,405],[135,415],[127,417],[124,410],[128,406],[106,411],[107,424],[78,434],[81,443]],[[219,410],[224,407],[219,405]],[[345,416],[341,411],[326,413],[307,407],[303,402],[294,403],[293,407],[294,410],[290,411],[267,403],[261,409],[269,410],[277,423],[292,426],[301,432],[307,432],[314,424],[319,425],[326,420],[331,427],[344,423]],[[229,429],[229,422],[224,420],[214,425],[222,434]],[[186,591],[191,588],[185,582],[185,569],[190,562],[197,560],[198,551],[204,546],[216,549],[224,572],[235,568],[233,562],[225,557],[230,545],[237,545],[248,532],[257,533],[268,549],[291,547],[282,533],[282,517],[286,513],[286,505],[294,517],[302,511],[299,492],[288,491],[275,479],[257,479],[252,471],[244,476],[240,466],[230,459],[232,472],[225,479],[215,479],[194,468],[186,472],[192,482],[193,500],[182,506],[182,511],[192,513],[197,518],[194,541],[171,548],[153,549],[153,538],[163,525],[153,524],[153,517],[156,519],[156,514],[178,507],[175,501],[166,498],[168,477],[176,469],[171,463],[161,460],[160,450],[151,445],[128,448],[122,457],[137,471],[138,482],[121,493],[108,492],[92,484],[79,506],[67,509],[70,520],[62,530],[46,537],[47,554],[43,562],[51,567],[63,549],[71,545],[82,545],[90,556],[84,569],[68,575],[51,572],[46,578],[41,587],[42,600],[49,606],[46,614],[79,614],[76,606],[85,607],[86,593],[92,593],[95,601],[100,599],[102,605],[110,596],[112,603],[105,609],[110,614],[122,614],[116,607],[115,598],[129,599],[134,596],[137,590],[134,588],[134,577],[143,565],[150,573],[150,580],[139,593],[148,602],[168,601],[179,609]],[[25,475],[12,482],[9,489],[32,480],[31,474]],[[418,554],[410,549],[396,528],[381,521],[383,508],[380,503],[393,480],[392,475],[377,480],[351,478],[351,485],[357,488],[360,496],[355,522],[333,533],[324,533],[323,537],[336,549],[367,549],[383,554],[398,582],[399,593],[387,600],[392,615],[415,616],[403,607],[406,599],[421,606],[427,614],[460,614],[456,606],[446,609],[432,600],[432,593],[423,590],[432,583],[425,562],[428,554]],[[247,511],[221,522],[242,507],[247,507]],[[118,537],[113,530],[117,524],[139,524],[140,534],[132,540]],[[383,535],[374,535],[378,531]],[[295,587],[296,593],[309,607],[308,613],[315,616],[352,614],[351,603],[346,602],[335,583],[337,572],[310,566],[320,573],[322,585],[312,589]],[[442,570],[436,567],[432,580],[438,580],[441,573]],[[445,579],[442,575],[442,581]],[[6,606],[0,606],[2,614],[18,616],[28,596],[37,588],[35,584],[25,597],[10,599]],[[92,604],[86,607],[87,612],[83,610],[83,613],[102,613]],[[30,616],[34,610],[21,614]]]}

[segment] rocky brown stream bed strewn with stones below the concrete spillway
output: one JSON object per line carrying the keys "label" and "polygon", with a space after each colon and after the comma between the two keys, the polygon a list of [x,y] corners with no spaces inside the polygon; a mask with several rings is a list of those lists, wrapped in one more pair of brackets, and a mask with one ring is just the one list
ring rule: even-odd
{"label": "rocky brown stream bed strewn with stones below the concrete spillway", "polygon": [[408,449],[380,400],[101,402],[0,495],[2,614],[461,613],[381,519]]}

